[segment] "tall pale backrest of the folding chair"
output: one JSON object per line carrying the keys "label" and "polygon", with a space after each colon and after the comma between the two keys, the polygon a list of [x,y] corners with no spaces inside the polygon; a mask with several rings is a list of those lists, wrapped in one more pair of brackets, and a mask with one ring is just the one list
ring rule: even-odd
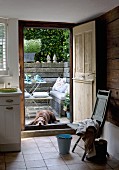
{"label": "tall pale backrest of the folding chair", "polygon": [[110,97],[110,91],[98,90],[95,107],[92,114],[92,119],[97,120],[102,128],[105,122],[107,104]]}

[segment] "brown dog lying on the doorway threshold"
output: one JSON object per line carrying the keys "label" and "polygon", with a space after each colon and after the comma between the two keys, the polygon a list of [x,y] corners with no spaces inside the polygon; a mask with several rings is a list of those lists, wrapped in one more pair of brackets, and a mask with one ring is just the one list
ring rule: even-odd
{"label": "brown dog lying on the doorway threshold", "polygon": [[53,112],[50,110],[41,110],[37,112],[35,119],[29,125],[47,125],[55,122],[59,122],[59,120],[56,119]]}

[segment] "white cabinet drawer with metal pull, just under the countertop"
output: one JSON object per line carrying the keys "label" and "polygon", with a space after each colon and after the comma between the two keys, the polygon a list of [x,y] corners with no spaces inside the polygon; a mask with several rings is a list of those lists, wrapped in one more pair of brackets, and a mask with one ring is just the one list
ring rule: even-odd
{"label": "white cabinet drawer with metal pull, just under the countertop", "polygon": [[13,104],[19,104],[20,98],[18,96],[9,96],[9,97],[1,97],[0,98],[0,105],[13,105]]}

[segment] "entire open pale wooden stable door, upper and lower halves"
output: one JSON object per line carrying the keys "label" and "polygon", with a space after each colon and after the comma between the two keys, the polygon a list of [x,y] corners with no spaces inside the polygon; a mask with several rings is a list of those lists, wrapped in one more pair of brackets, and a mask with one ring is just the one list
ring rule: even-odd
{"label": "entire open pale wooden stable door, upper and lower halves", "polygon": [[73,29],[73,121],[91,117],[96,98],[95,21]]}

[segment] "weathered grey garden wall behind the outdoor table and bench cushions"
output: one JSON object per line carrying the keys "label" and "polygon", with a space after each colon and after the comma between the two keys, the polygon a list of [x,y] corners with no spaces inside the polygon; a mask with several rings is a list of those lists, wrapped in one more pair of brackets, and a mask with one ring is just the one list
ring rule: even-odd
{"label": "weathered grey garden wall behind the outdoor table and bench cushions", "polygon": [[[24,73],[41,76],[46,80],[45,84],[41,84],[37,91],[49,91],[58,77],[65,77],[67,82],[70,79],[70,68],[68,62],[61,63],[24,63]],[[32,87],[30,84],[25,84],[25,88],[29,91]]]}

